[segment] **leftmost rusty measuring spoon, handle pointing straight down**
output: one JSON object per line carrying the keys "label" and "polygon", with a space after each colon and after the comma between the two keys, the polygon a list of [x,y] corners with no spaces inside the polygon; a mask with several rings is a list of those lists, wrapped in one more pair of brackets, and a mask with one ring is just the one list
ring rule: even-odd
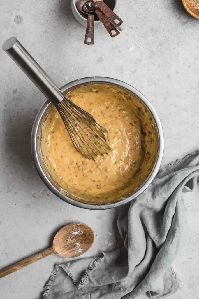
{"label": "leftmost rusty measuring spoon, handle pointing straight down", "polygon": [[80,0],[77,3],[77,8],[81,13],[86,14],[87,17],[87,27],[86,27],[86,35],[84,39],[84,44],[86,45],[94,45],[94,23],[95,23],[95,12],[84,11],[83,6],[87,2],[87,0]]}

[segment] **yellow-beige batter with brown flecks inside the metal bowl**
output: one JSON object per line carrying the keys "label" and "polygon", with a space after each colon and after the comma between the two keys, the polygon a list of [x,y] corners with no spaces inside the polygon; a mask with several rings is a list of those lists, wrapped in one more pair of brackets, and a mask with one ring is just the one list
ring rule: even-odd
{"label": "yellow-beige batter with brown flecks inside the metal bowl", "polygon": [[82,156],[75,150],[53,107],[42,129],[42,153],[47,169],[67,193],[92,203],[110,201],[113,194],[129,186],[146,156],[146,133],[141,117],[129,101],[106,84],[80,87],[67,97],[107,128],[112,150],[108,155],[98,155],[95,161]]}

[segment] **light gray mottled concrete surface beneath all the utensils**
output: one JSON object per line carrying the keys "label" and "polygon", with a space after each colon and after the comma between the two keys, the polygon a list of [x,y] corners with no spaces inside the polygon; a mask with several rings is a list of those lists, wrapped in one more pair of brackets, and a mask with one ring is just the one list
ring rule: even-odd
{"label": "light gray mottled concrete surface beneath all the utensils", "polygon": [[[86,46],[85,28],[73,18],[69,0],[1,0],[0,40],[18,37],[59,86],[107,76],[139,89],[161,118],[165,164],[198,149],[199,21],[180,0],[123,0],[120,15],[127,24],[120,36],[111,39],[101,28],[95,45]],[[85,256],[112,250],[117,209],[75,208],[39,178],[30,132],[45,98],[2,51],[0,59],[0,268],[50,246],[55,232],[72,221],[87,223],[97,235]],[[198,194],[199,188],[185,199],[187,244],[174,263],[184,288],[173,299],[199,298]],[[40,298],[58,260],[53,254],[0,279],[0,298]]]}

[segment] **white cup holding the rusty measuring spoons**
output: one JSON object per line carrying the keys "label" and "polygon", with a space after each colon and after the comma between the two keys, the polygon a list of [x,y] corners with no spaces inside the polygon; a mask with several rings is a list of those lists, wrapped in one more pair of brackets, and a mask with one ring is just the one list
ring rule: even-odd
{"label": "white cup holding the rusty measuring spoons", "polygon": [[[72,7],[72,13],[73,13],[73,15],[74,15],[74,17],[75,17],[75,19],[81,24],[81,25],[83,25],[84,27],[86,27],[87,26],[87,18],[83,15],[83,14],[81,14],[79,11],[78,11],[78,9],[77,9],[77,2],[78,2],[79,0],[71,0],[71,7]],[[117,15],[119,14],[119,8],[120,8],[120,5],[119,5],[119,1],[118,0],[115,0],[115,7],[114,7],[114,13],[116,13]],[[120,17],[120,16],[119,16]],[[102,23],[101,23],[101,21],[95,21],[95,26],[97,27],[97,28],[99,28],[99,27],[101,27],[101,26],[103,26],[102,25]],[[120,26],[120,27],[118,27],[118,30],[119,31],[123,31],[124,30],[124,26],[123,26],[123,24]]]}

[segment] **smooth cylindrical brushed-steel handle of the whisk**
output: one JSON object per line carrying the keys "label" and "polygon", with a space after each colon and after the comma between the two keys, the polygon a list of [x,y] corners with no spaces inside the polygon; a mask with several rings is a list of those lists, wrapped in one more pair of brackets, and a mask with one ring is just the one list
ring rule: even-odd
{"label": "smooth cylindrical brushed-steel handle of the whisk", "polygon": [[2,49],[16,62],[51,103],[58,104],[64,99],[64,94],[61,90],[58,89],[55,83],[26,51],[16,37],[11,37],[4,42]]}

